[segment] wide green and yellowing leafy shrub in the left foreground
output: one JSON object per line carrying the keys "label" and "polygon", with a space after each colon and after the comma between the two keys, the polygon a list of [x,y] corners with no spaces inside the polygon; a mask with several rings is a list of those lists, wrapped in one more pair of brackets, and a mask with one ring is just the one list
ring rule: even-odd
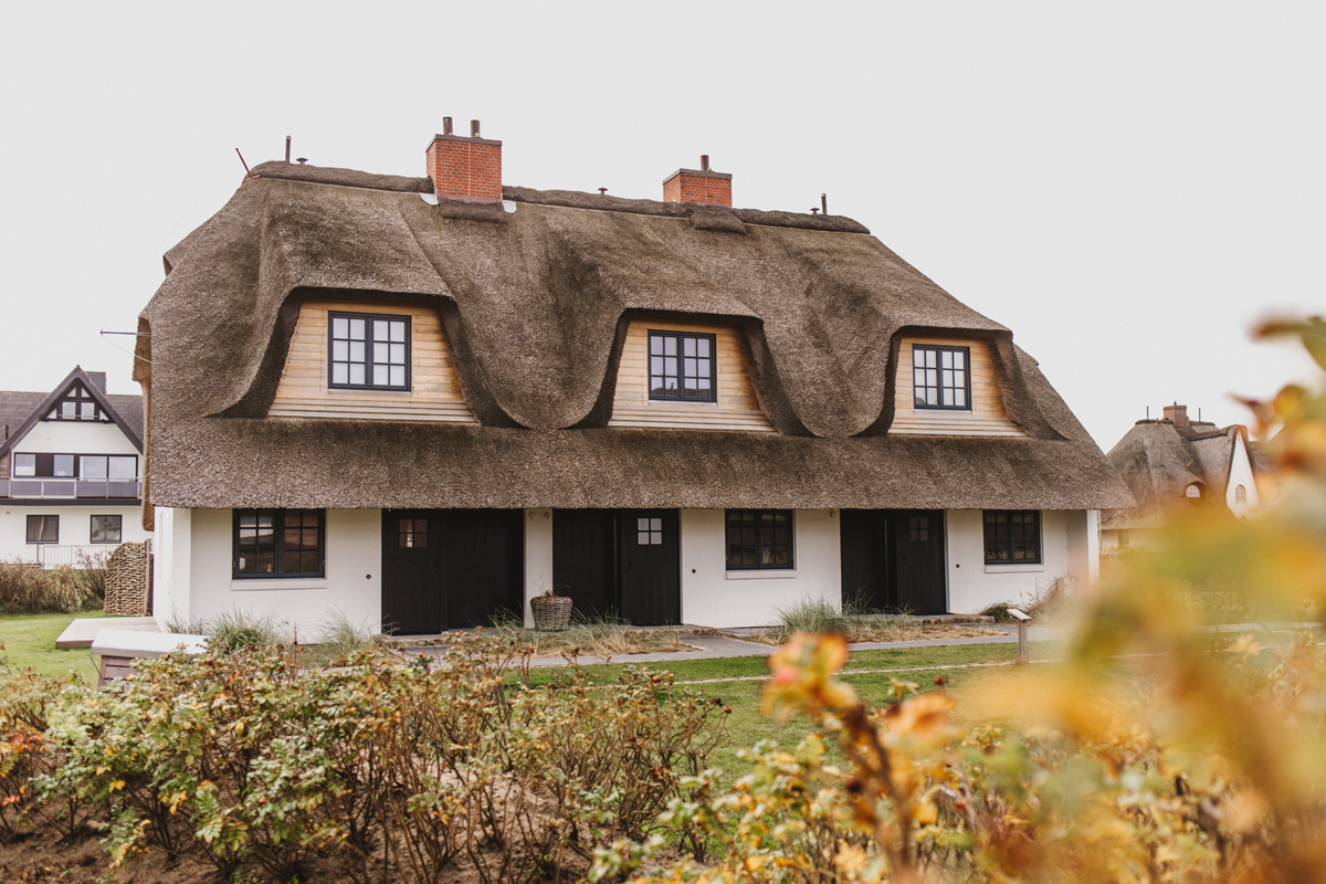
{"label": "wide green and yellowing leafy shrub in the left foreground", "polygon": [[298,660],[164,657],[65,692],[33,720],[58,763],[32,782],[90,808],[117,865],[155,850],[223,879],[308,880],[321,856],[357,881],[574,879],[595,848],[655,832],[721,736],[721,710],[667,676],[512,687],[518,659],[483,637],[438,669]]}

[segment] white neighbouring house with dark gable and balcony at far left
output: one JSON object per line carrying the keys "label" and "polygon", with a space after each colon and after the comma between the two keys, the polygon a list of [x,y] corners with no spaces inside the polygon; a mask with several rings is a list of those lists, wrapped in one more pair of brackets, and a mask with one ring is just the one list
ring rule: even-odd
{"label": "white neighbouring house with dark gable and balcony at far left", "polygon": [[142,396],[76,367],[49,392],[0,391],[0,559],[77,565],[143,541]]}

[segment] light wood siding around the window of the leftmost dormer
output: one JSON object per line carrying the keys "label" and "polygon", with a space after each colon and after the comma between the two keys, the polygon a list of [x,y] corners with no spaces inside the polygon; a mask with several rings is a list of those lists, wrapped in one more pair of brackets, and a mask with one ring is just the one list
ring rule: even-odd
{"label": "light wood siding around the window of the leftmost dormer", "polygon": [[[410,317],[410,390],[328,388],[328,311]],[[285,370],[269,417],[452,421],[477,424],[460,392],[460,379],[438,314],[424,307],[305,301],[290,338]]]}

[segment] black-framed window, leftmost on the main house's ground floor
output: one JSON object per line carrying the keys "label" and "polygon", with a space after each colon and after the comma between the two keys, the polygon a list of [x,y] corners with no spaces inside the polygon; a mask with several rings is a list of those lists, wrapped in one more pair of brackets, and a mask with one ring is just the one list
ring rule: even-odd
{"label": "black-framed window, leftmost on the main house's ground floor", "polygon": [[235,510],[232,577],[322,577],[324,524],[321,509]]}

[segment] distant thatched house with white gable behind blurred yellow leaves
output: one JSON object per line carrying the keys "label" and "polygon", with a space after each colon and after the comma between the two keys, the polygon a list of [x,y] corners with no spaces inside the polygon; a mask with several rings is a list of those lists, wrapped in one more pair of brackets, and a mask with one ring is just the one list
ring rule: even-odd
{"label": "distant thatched house with white gable behind blurred yellow leaves", "polygon": [[1189,420],[1188,407],[1139,420],[1107,457],[1138,505],[1101,514],[1101,547],[1152,546],[1192,518],[1246,518],[1265,501],[1273,470],[1242,424]]}

